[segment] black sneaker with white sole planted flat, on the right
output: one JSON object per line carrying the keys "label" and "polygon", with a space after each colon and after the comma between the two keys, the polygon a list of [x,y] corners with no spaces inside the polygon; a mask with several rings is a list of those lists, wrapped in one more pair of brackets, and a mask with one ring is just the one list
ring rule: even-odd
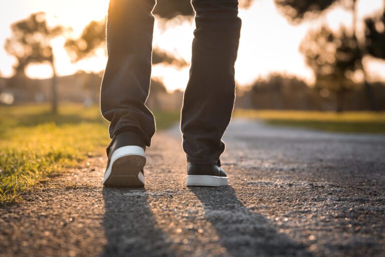
{"label": "black sneaker with white sole planted flat, on the right", "polygon": [[222,186],[228,185],[229,179],[221,168],[221,163],[187,163],[187,186]]}

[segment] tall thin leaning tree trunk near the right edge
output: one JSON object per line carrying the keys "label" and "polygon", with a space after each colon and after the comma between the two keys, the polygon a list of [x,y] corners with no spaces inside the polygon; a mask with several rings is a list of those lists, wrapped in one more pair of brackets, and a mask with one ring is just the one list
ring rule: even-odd
{"label": "tall thin leaning tree trunk near the right edge", "polygon": [[361,53],[362,53],[362,58],[361,58],[361,69],[362,69],[362,72],[363,72],[363,85],[364,85],[364,89],[365,89],[365,95],[366,95],[366,101],[368,103],[368,108],[372,111],[375,111],[377,108],[376,108],[376,103],[375,103],[375,99],[374,99],[374,95],[373,95],[373,90],[370,86],[370,84],[367,82],[367,74],[366,74],[366,71],[363,67],[363,57],[365,55],[367,55],[367,51],[366,51],[366,47],[365,47],[365,42],[360,42],[358,39],[357,39],[357,36],[356,36],[356,29],[357,29],[357,8],[356,8],[356,0],[353,0],[353,4],[352,4],[352,16],[353,16],[353,24],[352,24],[352,27],[353,27],[353,36],[358,44],[358,47],[359,49],[361,50]]}

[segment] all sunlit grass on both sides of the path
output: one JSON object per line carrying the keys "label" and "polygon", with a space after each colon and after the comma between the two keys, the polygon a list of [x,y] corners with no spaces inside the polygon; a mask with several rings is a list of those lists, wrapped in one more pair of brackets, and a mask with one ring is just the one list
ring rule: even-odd
{"label": "all sunlit grass on both sides of the path", "polygon": [[[105,154],[108,123],[98,107],[65,104],[58,114],[48,105],[0,107],[0,204],[17,202],[50,174],[81,166]],[[179,120],[179,111],[155,111],[157,130]],[[336,132],[385,133],[385,113],[236,110],[235,117],[272,125]]]}

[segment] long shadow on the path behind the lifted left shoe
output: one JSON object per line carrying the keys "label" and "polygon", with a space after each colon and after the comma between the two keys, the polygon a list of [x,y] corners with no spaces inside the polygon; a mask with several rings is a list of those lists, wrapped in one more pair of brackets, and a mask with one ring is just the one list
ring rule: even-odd
{"label": "long shadow on the path behind the lifted left shoe", "polygon": [[103,227],[107,244],[102,257],[174,256],[167,236],[157,228],[143,188],[103,188]]}

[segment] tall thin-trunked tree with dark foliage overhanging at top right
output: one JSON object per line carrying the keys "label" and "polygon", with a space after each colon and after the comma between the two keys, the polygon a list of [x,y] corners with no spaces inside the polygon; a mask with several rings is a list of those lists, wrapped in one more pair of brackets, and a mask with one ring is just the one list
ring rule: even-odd
{"label": "tall thin-trunked tree with dark foliage overhanging at top right", "polygon": [[[312,19],[322,15],[322,13],[333,5],[341,5],[352,13],[352,37],[357,38],[357,0],[274,0],[278,8],[288,18],[289,21],[299,23],[304,19]],[[365,42],[360,42],[357,39],[358,48],[362,52],[362,56],[368,55]],[[375,57],[375,56],[374,56]],[[363,69],[362,58],[360,66],[363,72],[363,84],[365,87],[367,102],[371,110],[376,109],[376,104],[370,84],[367,82],[366,71]]]}

